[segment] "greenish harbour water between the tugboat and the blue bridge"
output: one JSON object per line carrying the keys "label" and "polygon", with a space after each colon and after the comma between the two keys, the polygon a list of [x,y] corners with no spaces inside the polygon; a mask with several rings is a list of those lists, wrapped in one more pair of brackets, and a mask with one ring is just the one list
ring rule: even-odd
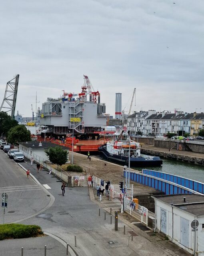
{"label": "greenish harbour water between the tugboat and the blue bridge", "polygon": [[[134,169],[142,170],[142,168],[134,168]],[[198,180],[204,183],[204,167],[203,166],[187,164],[187,163],[176,161],[176,160],[163,159],[163,164],[161,167],[152,167],[147,169],[175,174],[175,175],[189,178],[192,180]]]}

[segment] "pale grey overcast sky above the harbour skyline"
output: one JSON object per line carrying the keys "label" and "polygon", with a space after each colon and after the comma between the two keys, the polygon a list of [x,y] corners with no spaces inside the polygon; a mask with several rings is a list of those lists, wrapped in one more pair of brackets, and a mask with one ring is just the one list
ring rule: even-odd
{"label": "pale grey overcast sky above the harbour skyline", "polygon": [[[173,4],[175,2],[176,4]],[[0,6],[0,104],[20,74],[16,112],[80,92],[83,74],[115,112],[204,112],[203,0],[6,0]]]}

